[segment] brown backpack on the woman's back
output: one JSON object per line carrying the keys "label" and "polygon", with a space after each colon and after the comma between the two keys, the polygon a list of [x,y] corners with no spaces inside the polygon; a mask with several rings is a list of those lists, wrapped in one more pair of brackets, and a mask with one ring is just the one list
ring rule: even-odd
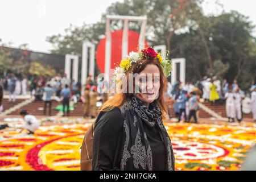
{"label": "brown backpack on the woman's back", "polygon": [[92,171],[92,148],[93,148],[93,134],[95,122],[86,131],[84,140],[82,140],[81,146],[81,159],[80,159],[80,169],[81,171]]}

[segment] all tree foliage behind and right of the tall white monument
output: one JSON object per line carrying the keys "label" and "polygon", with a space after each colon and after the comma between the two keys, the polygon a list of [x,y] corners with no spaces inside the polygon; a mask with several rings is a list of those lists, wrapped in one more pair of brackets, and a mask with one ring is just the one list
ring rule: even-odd
{"label": "all tree foliage behind and right of the tall white monument", "polygon": [[[253,24],[246,16],[231,11],[218,16],[203,14],[203,0],[124,0],[112,3],[100,22],[70,26],[65,35],[47,38],[53,53],[76,53],[81,56],[82,42],[96,44],[105,34],[105,17],[110,15],[147,16],[146,39],[151,46],[167,45],[170,57],[185,57],[186,80],[196,81],[205,75],[217,75],[232,82],[238,79],[247,86],[255,79],[256,43]],[[113,30],[123,27],[112,21]],[[130,22],[129,28],[140,30],[141,24]]]}

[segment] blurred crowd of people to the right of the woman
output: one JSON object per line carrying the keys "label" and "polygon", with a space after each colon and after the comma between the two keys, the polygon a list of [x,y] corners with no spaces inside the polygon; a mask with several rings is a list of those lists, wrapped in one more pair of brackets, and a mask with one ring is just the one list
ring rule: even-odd
{"label": "blurred crowd of people to the right of the woman", "polygon": [[187,82],[183,85],[183,83],[178,81],[172,85],[168,82],[166,95],[175,101],[174,111],[178,121],[183,116],[185,122],[190,122],[191,116],[193,116],[194,121],[197,122],[199,111],[198,102],[200,101],[209,102],[210,105],[226,104],[226,115],[229,122],[235,122],[235,119],[238,122],[242,121],[242,103],[246,101],[244,103],[250,103],[249,110],[253,113],[253,119],[256,121],[255,87],[254,83],[252,83],[251,93],[247,96],[247,99],[250,97],[248,101],[246,100],[245,92],[238,85],[237,80],[229,84],[226,79],[221,81],[216,76],[212,78],[205,76],[202,80],[195,82],[195,84],[193,82]]}

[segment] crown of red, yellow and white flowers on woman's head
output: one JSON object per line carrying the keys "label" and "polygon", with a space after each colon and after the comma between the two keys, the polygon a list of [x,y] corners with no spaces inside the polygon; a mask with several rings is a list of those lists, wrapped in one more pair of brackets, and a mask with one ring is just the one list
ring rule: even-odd
{"label": "crown of red, yellow and white flowers on woman's head", "polygon": [[172,70],[171,60],[163,60],[161,53],[156,53],[153,48],[148,47],[147,49],[143,49],[139,53],[133,51],[130,52],[129,55],[127,55],[125,59],[121,61],[119,67],[115,68],[113,81],[115,82],[115,84],[121,81],[125,77],[125,73],[131,68],[131,65],[137,63],[137,61],[141,59],[154,59],[155,57],[156,59],[158,59],[162,67],[164,76],[169,77]]}

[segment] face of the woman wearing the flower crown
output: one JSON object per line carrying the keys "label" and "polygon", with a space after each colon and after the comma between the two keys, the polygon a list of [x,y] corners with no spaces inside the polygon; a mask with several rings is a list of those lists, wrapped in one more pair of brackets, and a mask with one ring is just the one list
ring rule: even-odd
{"label": "face of the woman wearing the flower crown", "polygon": [[136,90],[139,88],[139,93],[134,93],[134,96],[139,98],[145,105],[149,105],[159,96],[160,89],[160,72],[156,65],[147,64],[141,73],[139,73],[138,82],[135,81]]}

